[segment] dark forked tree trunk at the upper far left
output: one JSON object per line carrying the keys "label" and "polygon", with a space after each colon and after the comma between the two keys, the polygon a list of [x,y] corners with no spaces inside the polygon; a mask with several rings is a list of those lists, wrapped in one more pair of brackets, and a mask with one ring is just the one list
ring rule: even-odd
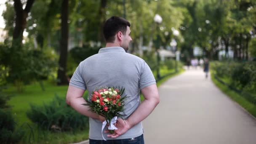
{"label": "dark forked tree trunk at the upper far left", "polygon": [[14,0],[14,10],[16,13],[15,17],[15,27],[13,30],[13,45],[21,45],[23,39],[23,31],[27,25],[27,16],[32,8],[34,0],[27,0],[27,5],[25,9],[22,8],[22,3],[20,0]]}

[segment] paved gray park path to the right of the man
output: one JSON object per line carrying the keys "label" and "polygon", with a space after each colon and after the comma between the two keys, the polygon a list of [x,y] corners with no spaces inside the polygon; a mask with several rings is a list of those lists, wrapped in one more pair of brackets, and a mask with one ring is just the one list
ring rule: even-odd
{"label": "paved gray park path to the right of the man", "polygon": [[158,90],[160,104],[143,121],[145,144],[256,144],[256,119],[202,69],[190,68]]}

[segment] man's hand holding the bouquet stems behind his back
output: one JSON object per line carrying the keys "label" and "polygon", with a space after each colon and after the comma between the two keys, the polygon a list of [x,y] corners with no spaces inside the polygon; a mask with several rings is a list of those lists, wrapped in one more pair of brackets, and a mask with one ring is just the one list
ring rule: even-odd
{"label": "man's hand holding the bouquet stems behind his back", "polygon": [[[121,118],[117,119],[117,123],[115,124],[115,127],[117,127],[117,130],[115,130],[115,132],[112,134],[108,134],[107,135],[108,137],[117,138],[118,136],[126,133],[131,128],[128,121],[123,120]],[[109,132],[109,131],[105,131],[105,133],[107,133],[107,132]]]}

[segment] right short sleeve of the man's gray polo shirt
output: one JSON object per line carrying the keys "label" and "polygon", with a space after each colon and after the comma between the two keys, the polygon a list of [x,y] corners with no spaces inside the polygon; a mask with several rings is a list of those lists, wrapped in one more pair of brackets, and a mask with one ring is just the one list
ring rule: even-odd
{"label": "right short sleeve of the man's gray polo shirt", "polygon": [[141,65],[139,88],[142,89],[152,84],[156,84],[155,77],[148,64],[143,61]]}

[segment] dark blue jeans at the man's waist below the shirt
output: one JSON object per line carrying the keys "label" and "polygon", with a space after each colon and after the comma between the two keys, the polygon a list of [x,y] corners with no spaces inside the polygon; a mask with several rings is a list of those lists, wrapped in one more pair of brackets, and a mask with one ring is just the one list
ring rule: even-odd
{"label": "dark blue jeans at the man's waist below the shirt", "polygon": [[89,139],[89,144],[144,144],[143,134],[131,139],[94,140]]}

